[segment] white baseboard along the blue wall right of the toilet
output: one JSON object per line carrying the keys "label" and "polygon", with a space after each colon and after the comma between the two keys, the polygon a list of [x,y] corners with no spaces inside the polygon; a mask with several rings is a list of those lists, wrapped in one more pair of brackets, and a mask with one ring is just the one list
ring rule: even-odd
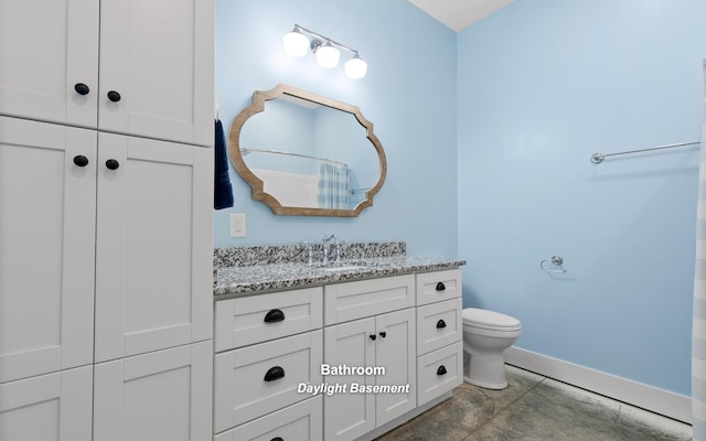
{"label": "white baseboard along the blue wall right of the toilet", "polygon": [[514,346],[505,349],[505,363],[654,413],[692,423],[692,399],[684,395]]}

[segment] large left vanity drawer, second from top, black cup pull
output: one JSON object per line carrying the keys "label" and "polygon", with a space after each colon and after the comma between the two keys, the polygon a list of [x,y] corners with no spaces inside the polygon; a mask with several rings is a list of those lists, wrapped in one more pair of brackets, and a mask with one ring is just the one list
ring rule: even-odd
{"label": "large left vanity drawer, second from top, black cup pull", "polygon": [[308,398],[297,387],[320,385],[322,362],[321,330],[216,354],[215,432]]}

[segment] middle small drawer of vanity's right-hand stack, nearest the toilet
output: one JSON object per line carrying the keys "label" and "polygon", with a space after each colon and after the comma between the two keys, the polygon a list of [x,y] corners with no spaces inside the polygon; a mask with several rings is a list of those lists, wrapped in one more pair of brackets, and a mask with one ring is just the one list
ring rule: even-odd
{"label": "middle small drawer of vanity's right-hand stack, nearest the toilet", "polygon": [[417,308],[417,354],[463,340],[461,298]]}

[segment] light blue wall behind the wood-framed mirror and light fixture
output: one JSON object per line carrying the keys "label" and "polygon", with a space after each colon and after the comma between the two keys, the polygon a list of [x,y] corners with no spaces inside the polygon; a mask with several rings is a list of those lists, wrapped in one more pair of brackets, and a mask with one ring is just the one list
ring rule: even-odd
{"label": "light blue wall behind the wood-framed mirror and light fixture", "polygon": [[[298,23],[360,51],[363,79],[313,56],[291,58],[281,37]],[[278,83],[360,107],[387,157],[387,180],[357,218],[275,216],[231,170],[235,207],[215,213],[217,247],[297,244],[335,233],[349,241],[404,240],[410,255],[457,257],[456,39],[407,0],[217,0],[216,97],[226,130],[254,90]],[[247,237],[228,237],[228,213]]]}

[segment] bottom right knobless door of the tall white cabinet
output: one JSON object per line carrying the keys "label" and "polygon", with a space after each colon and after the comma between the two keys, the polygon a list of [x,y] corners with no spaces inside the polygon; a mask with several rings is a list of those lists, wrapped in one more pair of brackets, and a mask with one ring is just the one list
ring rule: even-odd
{"label": "bottom right knobless door of the tall white cabinet", "polygon": [[212,365],[211,342],[97,364],[94,440],[210,440]]}

